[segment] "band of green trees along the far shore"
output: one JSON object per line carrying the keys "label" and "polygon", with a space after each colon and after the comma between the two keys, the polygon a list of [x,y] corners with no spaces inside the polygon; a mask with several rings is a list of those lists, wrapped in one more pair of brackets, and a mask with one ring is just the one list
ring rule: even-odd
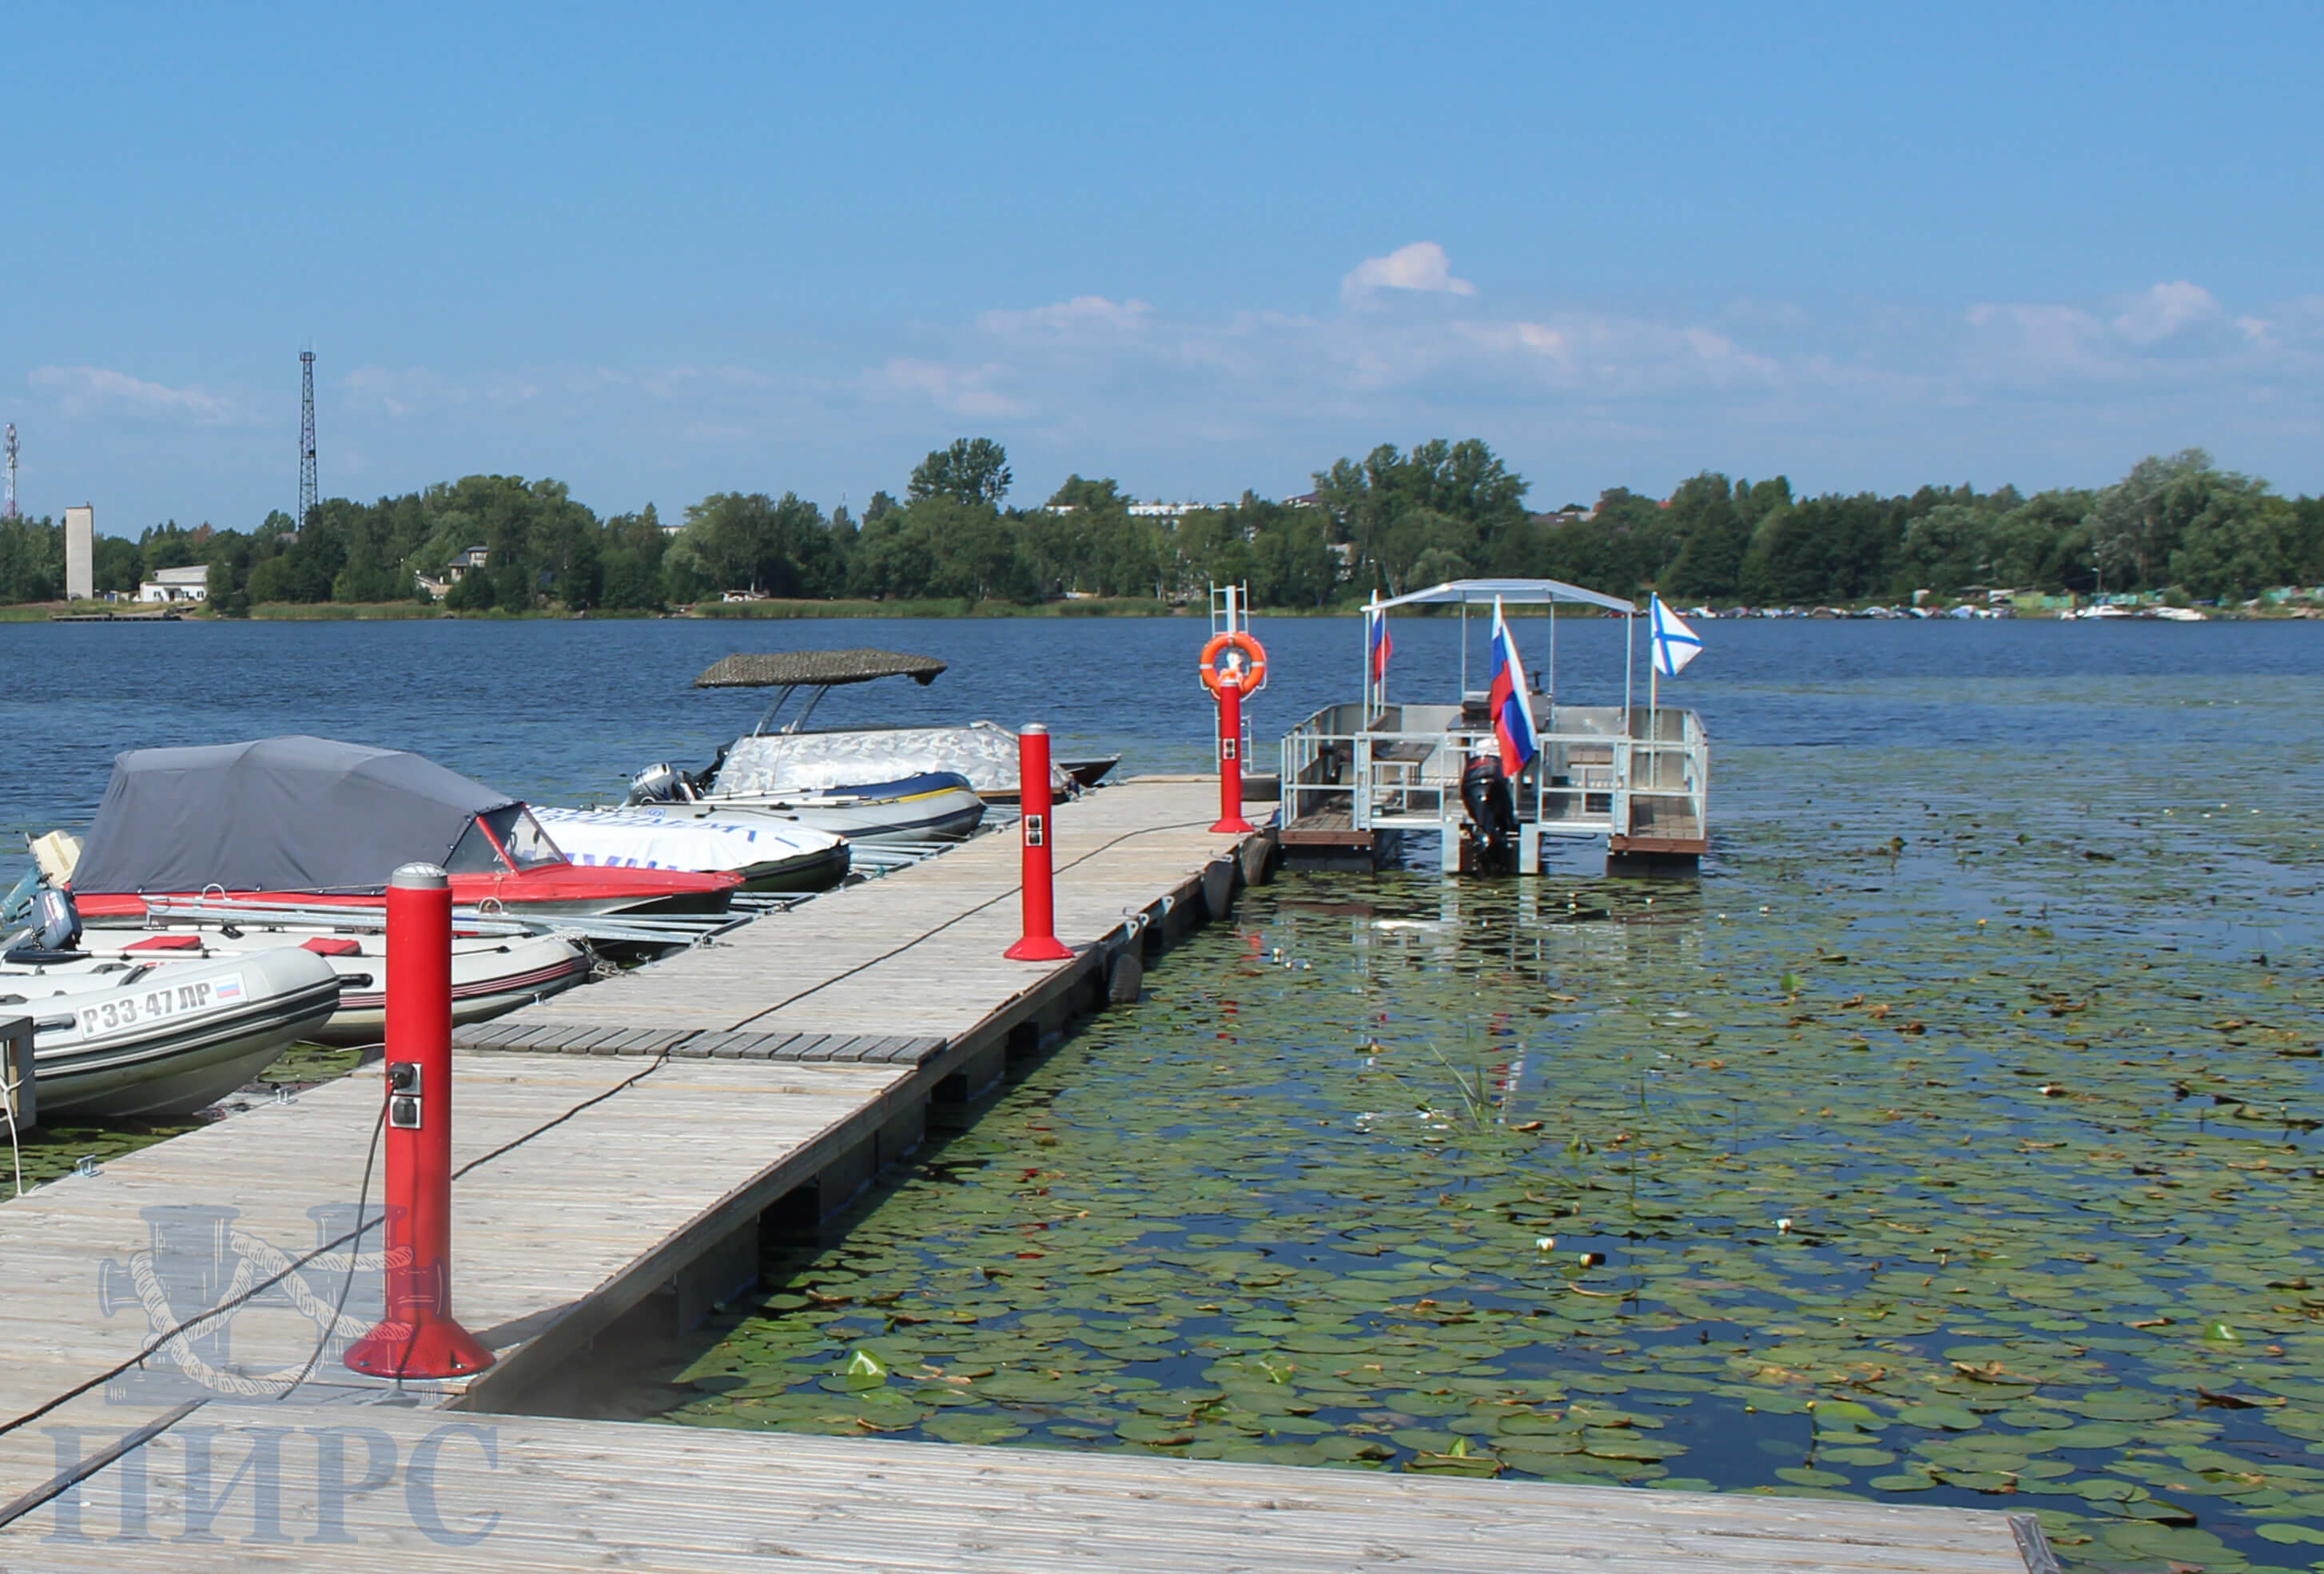
{"label": "band of green trees along the far shore", "polygon": [[[1315,488],[1178,516],[1132,511],[1111,479],[1069,477],[1011,507],[1006,451],[937,449],[904,495],[862,518],[797,493],[713,493],[665,530],[648,505],[597,516],[562,481],[465,477],[376,502],[332,498],[300,525],[163,523],[98,537],[98,593],[135,593],[163,567],[209,567],[221,614],[256,602],[432,600],[456,611],[665,609],[727,593],[799,600],[1185,600],[1248,584],[1253,604],[1320,609],[1471,574],[1550,577],[1615,595],[1815,604],[1957,595],[2180,591],[2240,600],[2324,584],[2324,502],[2282,498],[2201,449],[2145,458],[2101,488],[1922,486],[1910,495],[1794,495],[1701,472],[1669,498],[1611,488],[1594,507],[1527,507],[1529,484],[1478,439],[1392,444],[1341,458]],[[481,565],[453,567],[469,549]],[[0,600],[63,593],[63,530],[0,523]]]}

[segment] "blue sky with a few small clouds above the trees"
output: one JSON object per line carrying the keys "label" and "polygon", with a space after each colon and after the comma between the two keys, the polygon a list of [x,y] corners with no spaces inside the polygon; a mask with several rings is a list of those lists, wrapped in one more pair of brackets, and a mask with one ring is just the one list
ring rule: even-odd
{"label": "blue sky with a few small clouds above the trees", "polygon": [[1480,435],[1694,470],[2324,491],[2324,7],[21,7],[30,511],[479,470],[600,511],[1304,491]]}

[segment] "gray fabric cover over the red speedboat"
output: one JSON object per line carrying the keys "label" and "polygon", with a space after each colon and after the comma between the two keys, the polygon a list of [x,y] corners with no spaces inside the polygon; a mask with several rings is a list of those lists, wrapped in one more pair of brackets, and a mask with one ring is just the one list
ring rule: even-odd
{"label": "gray fabric cover over the red speedboat", "polygon": [[79,893],[386,890],[444,863],[469,821],[516,802],[402,749],[263,737],[132,749],[72,872]]}

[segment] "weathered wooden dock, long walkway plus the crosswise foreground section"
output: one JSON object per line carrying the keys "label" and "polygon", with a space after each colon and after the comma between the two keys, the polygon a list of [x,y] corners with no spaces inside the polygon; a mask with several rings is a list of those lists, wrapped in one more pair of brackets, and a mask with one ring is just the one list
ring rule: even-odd
{"label": "weathered wooden dock, long walkway plus the crosswise foreground section", "polygon": [[[769,1209],[844,1209],[932,1102],[1132,997],[1264,874],[1211,807],[1132,781],[1057,811],[1071,963],[1002,960],[1004,835],[465,1030],[456,1311],[497,1355],[467,1381],[325,1348],[293,1390],[349,1283],[372,1076],[0,1207],[0,1574],[2047,1567],[1999,1514],[507,1414],[590,1339],[690,1325],[751,1281]],[[376,1272],[353,1286],[349,1337],[379,1311]]]}

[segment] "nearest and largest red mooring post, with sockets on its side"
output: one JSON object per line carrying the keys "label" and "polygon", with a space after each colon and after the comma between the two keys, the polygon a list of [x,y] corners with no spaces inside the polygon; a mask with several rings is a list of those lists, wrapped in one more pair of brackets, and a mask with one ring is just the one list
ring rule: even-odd
{"label": "nearest and largest red mooring post, with sockets on its side", "polygon": [[493,1353],[451,1314],[451,879],[388,877],[388,1307],[346,1351],[372,1376],[465,1376]]}

